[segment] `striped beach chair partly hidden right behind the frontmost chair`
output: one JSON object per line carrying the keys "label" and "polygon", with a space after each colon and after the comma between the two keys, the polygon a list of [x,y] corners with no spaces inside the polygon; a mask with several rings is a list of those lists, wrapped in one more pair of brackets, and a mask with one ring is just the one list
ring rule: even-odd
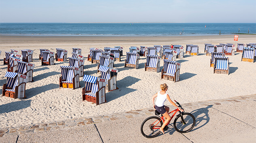
{"label": "striped beach chair partly hidden right behind the frontmost chair", "polygon": [[100,78],[107,79],[107,85],[106,85],[107,91],[118,89],[116,85],[116,77],[117,77],[118,70],[114,68],[109,68],[107,66],[100,66],[99,70],[100,70]]}

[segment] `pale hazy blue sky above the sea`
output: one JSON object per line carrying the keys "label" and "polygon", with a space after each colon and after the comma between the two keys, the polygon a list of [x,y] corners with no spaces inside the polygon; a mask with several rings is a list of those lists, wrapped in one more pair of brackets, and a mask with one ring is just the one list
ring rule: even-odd
{"label": "pale hazy blue sky above the sea", "polygon": [[0,0],[1,23],[256,23],[256,0]]}

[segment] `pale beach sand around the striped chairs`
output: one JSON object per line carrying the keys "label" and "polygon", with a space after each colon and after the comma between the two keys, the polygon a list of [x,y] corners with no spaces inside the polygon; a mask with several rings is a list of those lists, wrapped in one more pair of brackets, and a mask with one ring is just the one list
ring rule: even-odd
{"label": "pale beach sand around the striped chairs", "polygon": [[[60,120],[127,112],[143,108],[151,108],[151,97],[157,93],[159,85],[167,83],[167,93],[171,99],[181,104],[204,100],[222,99],[256,93],[256,62],[241,62],[241,53],[228,56],[230,74],[213,74],[209,66],[210,56],[204,53],[204,44],[211,43],[256,43],[256,35],[239,35],[239,41],[233,41],[234,35],[212,36],[175,36],[175,37],[46,37],[46,36],[0,36],[0,92],[6,83],[4,77],[7,66],[3,65],[4,51],[10,49],[34,50],[35,64],[34,82],[26,84],[26,99],[0,97],[0,128],[24,126],[36,123],[50,123]],[[97,64],[87,61],[89,48],[122,46],[124,55],[130,46],[154,46],[166,44],[196,44],[199,46],[199,56],[189,56],[177,59],[181,63],[180,81],[161,80],[161,73],[145,72],[146,57],[139,60],[139,69],[124,68],[126,56],[121,62],[115,62],[117,87],[119,89],[106,93],[107,103],[96,106],[92,102],[82,102],[82,88],[85,83],[80,77],[81,88],[59,88],[60,66],[68,66],[68,62],[56,62],[52,66],[41,66],[38,60],[40,48],[56,52],[55,48],[68,50],[71,56],[72,48],[81,48],[85,57],[84,74],[98,76]],[[163,60],[160,61],[160,69]],[[167,103],[167,102],[166,102]],[[167,103],[168,104],[168,103]]]}

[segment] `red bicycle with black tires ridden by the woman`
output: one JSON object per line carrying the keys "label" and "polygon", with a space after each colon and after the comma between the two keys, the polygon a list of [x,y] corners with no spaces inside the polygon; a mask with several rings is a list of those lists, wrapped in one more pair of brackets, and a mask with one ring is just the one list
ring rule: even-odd
{"label": "red bicycle with black tires ridden by the woman", "polygon": [[[175,100],[174,100],[175,101]],[[175,101],[176,104],[178,104],[179,108],[183,109],[182,106],[179,104],[179,102]],[[175,130],[179,133],[188,133],[189,131],[192,130],[192,128],[194,128],[195,124],[196,124],[196,119],[195,117],[187,112],[181,112],[179,111],[179,108],[169,112],[168,114],[171,114],[172,112],[173,115],[171,116],[171,120],[172,118],[175,116],[175,114],[177,112],[179,112],[179,114],[177,115],[177,117],[175,118],[175,120],[173,121],[173,126],[175,128]],[[184,110],[184,109],[183,109]],[[153,138],[158,136],[161,132],[158,130],[163,122],[164,122],[164,116],[161,117],[159,116],[160,113],[155,110],[155,115],[157,116],[150,116],[148,118],[146,118],[142,124],[141,124],[141,134],[144,137],[147,138]],[[171,122],[171,120],[168,122],[168,124]],[[164,127],[164,131],[168,130],[168,124],[166,124],[166,126]]]}

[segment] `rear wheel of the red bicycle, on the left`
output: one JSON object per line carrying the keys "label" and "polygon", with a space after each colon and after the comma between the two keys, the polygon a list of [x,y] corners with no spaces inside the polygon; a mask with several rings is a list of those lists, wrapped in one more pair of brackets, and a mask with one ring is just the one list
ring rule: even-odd
{"label": "rear wheel of the red bicycle, on the left", "polygon": [[160,134],[158,129],[162,126],[162,120],[157,116],[146,118],[141,124],[141,134],[147,138],[153,138]]}

